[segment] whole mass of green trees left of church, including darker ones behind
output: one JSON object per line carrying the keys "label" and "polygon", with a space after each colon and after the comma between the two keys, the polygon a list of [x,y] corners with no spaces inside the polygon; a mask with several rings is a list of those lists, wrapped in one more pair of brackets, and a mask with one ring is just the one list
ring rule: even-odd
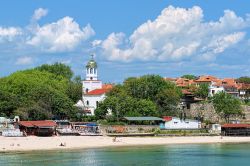
{"label": "whole mass of green trees left of church, including darker ones behind", "polygon": [[19,115],[23,120],[73,118],[81,83],[72,76],[70,67],[56,63],[1,78],[0,115]]}

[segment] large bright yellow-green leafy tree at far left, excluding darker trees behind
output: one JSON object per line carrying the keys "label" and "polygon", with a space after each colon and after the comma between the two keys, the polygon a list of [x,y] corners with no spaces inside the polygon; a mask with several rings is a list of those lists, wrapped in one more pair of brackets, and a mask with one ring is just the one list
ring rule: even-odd
{"label": "large bright yellow-green leafy tree at far left, excluding darker trees behind", "polygon": [[[5,94],[0,102],[0,113],[18,113],[23,119],[44,119],[52,115],[70,118],[76,109],[67,94],[68,85],[67,78],[47,71],[31,69],[15,72],[0,79],[0,92]],[[6,108],[10,105],[13,107]],[[35,112],[39,116],[34,116]]]}

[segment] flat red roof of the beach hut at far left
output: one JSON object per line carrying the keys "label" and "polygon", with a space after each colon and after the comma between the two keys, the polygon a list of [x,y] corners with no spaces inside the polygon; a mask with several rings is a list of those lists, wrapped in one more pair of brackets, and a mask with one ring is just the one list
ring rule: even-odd
{"label": "flat red roof of the beach hut at far left", "polygon": [[19,125],[25,127],[54,127],[56,123],[52,120],[20,121]]}

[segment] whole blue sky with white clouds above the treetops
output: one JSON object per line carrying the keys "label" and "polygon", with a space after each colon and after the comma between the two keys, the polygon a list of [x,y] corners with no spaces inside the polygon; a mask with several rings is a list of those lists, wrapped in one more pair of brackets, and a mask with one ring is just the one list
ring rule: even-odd
{"label": "whole blue sky with white clouds above the treetops", "polygon": [[62,62],[104,82],[129,76],[250,76],[246,0],[26,0],[0,4],[0,77]]}

